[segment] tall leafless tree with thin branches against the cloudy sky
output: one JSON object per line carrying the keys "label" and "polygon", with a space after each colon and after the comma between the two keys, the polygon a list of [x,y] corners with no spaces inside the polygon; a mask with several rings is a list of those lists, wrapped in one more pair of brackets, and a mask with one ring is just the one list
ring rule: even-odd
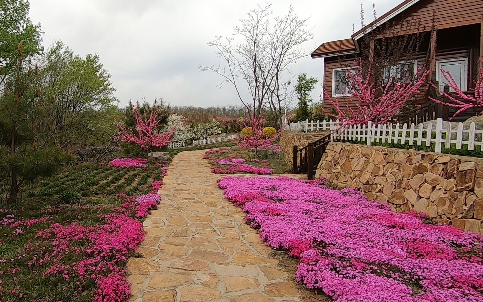
{"label": "tall leafless tree with thin branches against the cloudy sky", "polygon": [[[272,14],[271,4],[251,10],[240,20],[241,26],[234,28],[233,37],[217,36],[208,43],[217,48],[216,54],[225,65],[199,69],[222,76],[220,87],[231,83],[250,117],[258,117],[267,109],[277,123],[293,95],[287,92],[287,83],[293,77],[290,68],[305,56],[302,44],[313,35],[307,28],[308,19],[300,19],[292,6],[283,17],[271,18]],[[244,97],[246,94],[250,99]]]}

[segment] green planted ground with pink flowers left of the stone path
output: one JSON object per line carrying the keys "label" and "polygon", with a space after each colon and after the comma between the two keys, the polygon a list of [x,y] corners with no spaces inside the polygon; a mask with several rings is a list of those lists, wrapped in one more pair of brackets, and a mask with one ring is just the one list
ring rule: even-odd
{"label": "green planted ground with pink flowers left of the stone path", "polygon": [[99,298],[101,284],[114,296],[125,291],[118,275],[136,256],[147,212],[119,194],[151,193],[161,172],[154,162],[146,168],[81,164],[27,187],[16,209],[0,213],[0,301],[110,301],[105,293]]}

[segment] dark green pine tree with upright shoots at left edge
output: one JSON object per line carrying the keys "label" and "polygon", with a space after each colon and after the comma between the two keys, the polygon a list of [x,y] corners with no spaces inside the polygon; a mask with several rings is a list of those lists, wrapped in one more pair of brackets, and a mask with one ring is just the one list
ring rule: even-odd
{"label": "dark green pine tree with upright shoots at left edge", "polygon": [[70,160],[48,139],[52,128],[42,122],[50,104],[40,99],[38,66],[24,66],[22,43],[18,46],[17,70],[3,83],[0,101],[0,172],[10,180],[7,206],[17,201],[22,185],[49,176]]}

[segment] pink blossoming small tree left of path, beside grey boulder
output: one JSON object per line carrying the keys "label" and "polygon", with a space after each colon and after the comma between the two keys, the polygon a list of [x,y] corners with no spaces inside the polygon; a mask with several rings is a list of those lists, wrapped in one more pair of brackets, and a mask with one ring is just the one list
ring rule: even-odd
{"label": "pink blossoming small tree left of path, beside grey boulder", "polygon": [[136,130],[135,133],[132,129],[122,125],[117,124],[119,133],[114,135],[114,139],[125,143],[132,143],[141,146],[141,150],[150,150],[151,154],[153,152],[153,147],[163,147],[170,144],[172,141],[172,136],[175,131],[174,128],[170,131],[159,132],[160,119],[163,115],[159,113],[159,110],[153,108],[148,116],[142,116],[139,112],[139,102],[136,104],[134,109],[134,114],[136,116]]}

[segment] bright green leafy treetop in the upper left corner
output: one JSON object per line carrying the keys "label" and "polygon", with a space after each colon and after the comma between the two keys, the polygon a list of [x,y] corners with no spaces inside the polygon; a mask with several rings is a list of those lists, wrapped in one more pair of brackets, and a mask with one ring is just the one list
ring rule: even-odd
{"label": "bright green leafy treetop in the upper left corner", "polygon": [[23,44],[24,62],[41,54],[40,24],[28,18],[28,0],[0,0],[0,66],[2,75],[16,70],[17,46]]}

